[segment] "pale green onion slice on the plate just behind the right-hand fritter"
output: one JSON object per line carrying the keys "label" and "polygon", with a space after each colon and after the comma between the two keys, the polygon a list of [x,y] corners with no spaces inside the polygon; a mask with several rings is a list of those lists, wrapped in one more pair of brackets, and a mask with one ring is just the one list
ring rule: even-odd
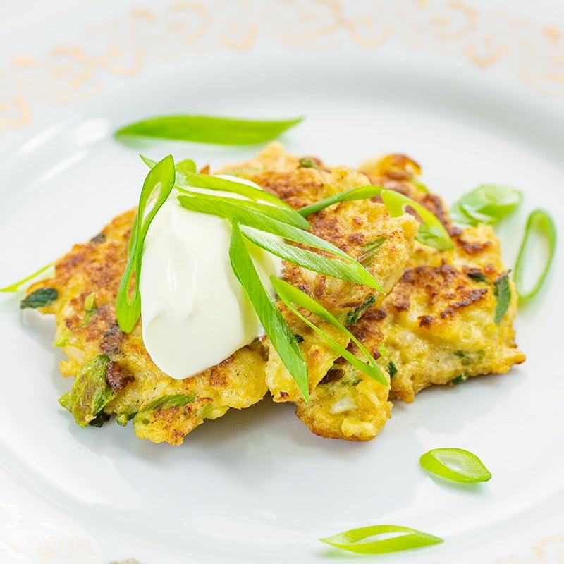
{"label": "pale green onion slice on the plate just behind the right-hand fritter", "polygon": [[522,192],[517,188],[482,184],[466,192],[453,204],[450,217],[457,223],[476,226],[497,223],[519,206]]}

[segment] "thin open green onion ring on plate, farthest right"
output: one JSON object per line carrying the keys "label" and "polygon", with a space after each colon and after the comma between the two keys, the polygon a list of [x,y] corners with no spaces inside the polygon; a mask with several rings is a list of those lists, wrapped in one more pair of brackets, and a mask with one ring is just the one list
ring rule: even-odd
{"label": "thin open green onion ring on plate, farthest right", "polygon": [[[541,273],[536,278],[534,283],[525,283],[525,274],[527,266],[530,266],[530,260],[527,266],[527,257],[532,256],[533,247],[537,245],[544,245],[546,257],[544,259],[544,266],[541,267]],[[527,219],[525,226],[525,234],[517,254],[517,262],[515,263],[515,271],[513,273],[513,280],[515,281],[515,288],[517,295],[521,300],[529,300],[536,295],[544,283],[548,270],[551,267],[554,252],[556,250],[556,225],[550,214],[544,209],[535,209]]]}

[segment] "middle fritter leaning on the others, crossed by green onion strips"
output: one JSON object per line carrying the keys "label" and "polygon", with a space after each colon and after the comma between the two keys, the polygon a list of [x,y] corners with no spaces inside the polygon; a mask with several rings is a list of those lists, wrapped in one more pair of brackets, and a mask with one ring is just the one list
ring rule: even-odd
{"label": "middle fritter leaning on the others, crossed by green onion strips", "polygon": [[[304,166],[304,162],[307,166]],[[329,168],[314,157],[308,157],[307,161],[292,157],[278,143],[266,147],[252,161],[228,166],[222,172],[252,180],[293,207],[302,207],[349,188],[369,184],[366,176],[353,169],[345,166]],[[284,265],[283,278],[319,301],[345,325],[354,324],[370,305],[381,303],[403,274],[417,233],[417,221],[409,214],[392,218],[384,204],[372,200],[341,202],[307,219],[312,226],[312,233],[362,262],[379,281],[382,291],[322,276],[289,263]],[[377,252],[371,252],[375,243]],[[308,364],[309,391],[314,401],[319,396],[319,393],[315,393],[316,386],[339,355],[286,309],[283,309],[283,313],[293,331],[304,338],[300,347]],[[321,322],[321,326],[339,344],[348,344],[348,339],[331,326],[324,322]],[[269,344],[268,339],[264,342]],[[266,381],[274,401],[305,405],[298,386],[271,345]],[[386,390],[385,386],[381,388]],[[318,419],[309,417],[312,422]],[[310,428],[318,434],[324,434],[320,428]],[[331,436],[336,436],[336,432],[332,431]]]}

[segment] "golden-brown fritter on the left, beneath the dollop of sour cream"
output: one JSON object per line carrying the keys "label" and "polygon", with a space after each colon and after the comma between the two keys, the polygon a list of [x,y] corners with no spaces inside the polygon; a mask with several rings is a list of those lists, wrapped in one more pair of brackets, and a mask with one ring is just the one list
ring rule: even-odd
{"label": "golden-brown fritter on the left, beneath the dollop of sour cream", "polygon": [[[137,436],[180,444],[204,419],[264,396],[265,350],[255,341],[193,378],[176,380],[152,362],[140,324],[127,334],[119,329],[115,302],[134,215],[132,210],[117,216],[88,243],[75,245],[56,263],[54,278],[36,283],[29,293],[49,287],[59,294],[42,310],[56,318],[55,344],[67,356],[61,361],[63,376],[82,371],[85,380],[92,380],[94,368],[104,368],[105,381],[99,379],[96,389],[82,393],[80,405],[75,404],[77,422],[100,423],[102,414],[115,413],[121,424],[133,418]],[[96,399],[100,395],[103,406]],[[61,403],[71,407],[68,401]]]}

